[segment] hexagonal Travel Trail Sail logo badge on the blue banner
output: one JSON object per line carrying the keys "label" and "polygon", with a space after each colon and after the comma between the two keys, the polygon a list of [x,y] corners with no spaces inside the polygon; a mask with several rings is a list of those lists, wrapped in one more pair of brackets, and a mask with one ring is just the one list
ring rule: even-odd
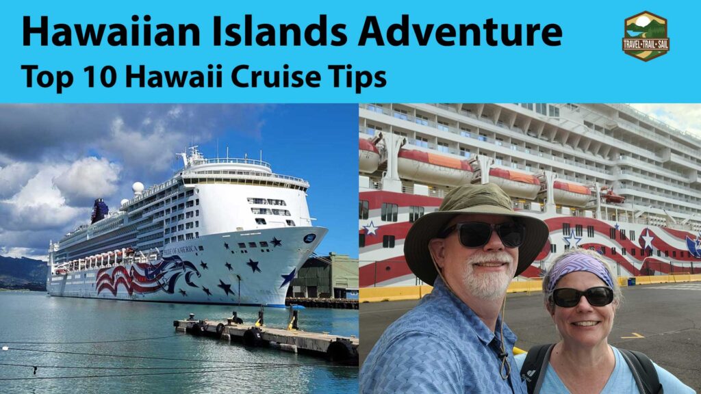
{"label": "hexagonal Travel Trail Sail logo badge on the blue banner", "polygon": [[623,52],[648,62],[669,52],[667,20],[648,11],[625,20]]}

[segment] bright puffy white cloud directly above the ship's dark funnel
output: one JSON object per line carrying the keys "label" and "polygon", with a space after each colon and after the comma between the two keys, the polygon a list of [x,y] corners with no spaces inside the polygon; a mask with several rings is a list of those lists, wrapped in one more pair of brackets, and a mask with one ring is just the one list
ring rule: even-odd
{"label": "bright puffy white cloud directly above the ship's dark funnel", "polygon": [[117,189],[121,166],[106,158],[87,157],[74,162],[53,179],[72,206],[90,205],[95,198],[107,198]]}

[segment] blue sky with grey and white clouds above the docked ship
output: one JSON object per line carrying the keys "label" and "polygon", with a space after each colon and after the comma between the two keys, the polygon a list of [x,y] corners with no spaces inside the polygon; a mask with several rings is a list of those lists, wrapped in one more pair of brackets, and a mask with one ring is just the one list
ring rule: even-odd
{"label": "blue sky with grey and white clouds above the docked ship", "polygon": [[113,209],[131,185],[164,182],[191,144],[259,158],[310,183],[318,254],[358,257],[358,107],[353,104],[7,104],[0,106],[0,254],[46,258],[49,240]]}

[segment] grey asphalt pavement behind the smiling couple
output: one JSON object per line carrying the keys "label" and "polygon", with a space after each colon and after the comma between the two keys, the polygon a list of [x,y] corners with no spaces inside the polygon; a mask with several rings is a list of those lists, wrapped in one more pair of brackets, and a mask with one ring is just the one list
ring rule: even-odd
{"label": "grey asphalt pavement behind the smiling couple", "polygon": [[[646,353],[686,385],[701,391],[701,282],[623,287],[623,304],[615,315],[608,343]],[[418,301],[360,305],[360,362],[385,328]],[[528,350],[557,341],[554,324],[543,308],[543,295],[509,294],[506,323],[517,334],[516,346]],[[639,338],[639,334],[642,338]]]}

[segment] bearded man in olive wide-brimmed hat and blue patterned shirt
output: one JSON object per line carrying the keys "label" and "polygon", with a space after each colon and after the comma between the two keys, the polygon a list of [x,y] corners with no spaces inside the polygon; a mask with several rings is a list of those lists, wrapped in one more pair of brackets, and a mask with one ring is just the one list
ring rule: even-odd
{"label": "bearded man in olive wide-brimmed hat and blue patterned shirt", "polygon": [[393,322],[365,360],[361,393],[526,393],[516,336],[499,310],[536,259],[547,225],[514,212],[494,184],[461,186],[411,226],[404,255],[433,291]]}

